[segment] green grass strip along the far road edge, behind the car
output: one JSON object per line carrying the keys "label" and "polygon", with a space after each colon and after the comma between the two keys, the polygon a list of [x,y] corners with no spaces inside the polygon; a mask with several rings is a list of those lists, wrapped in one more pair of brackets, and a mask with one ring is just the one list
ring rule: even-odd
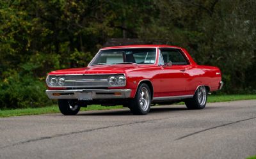
{"label": "green grass strip along the far road edge, behind the car", "polygon": [[[235,101],[235,100],[255,100],[255,99],[256,99],[256,95],[210,95],[207,102],[209,103],[229,102],[229,101]],[[122,106],[103,107],[100,105],[90,105],[87,108],[81,108],[81,111],[108,110],[108,109],[120,109],[120,108],[122,108]],[[56,105],[52,105],[51,107],[42,107],[42,108],[0,110],[0,117],[49,114],[49,113],[56,113],[56,112],[60,112],[58,107]]]}

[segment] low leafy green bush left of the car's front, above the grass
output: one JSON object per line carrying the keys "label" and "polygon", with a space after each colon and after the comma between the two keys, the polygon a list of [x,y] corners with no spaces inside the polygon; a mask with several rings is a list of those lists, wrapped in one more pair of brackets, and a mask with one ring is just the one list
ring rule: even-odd
{"label": "low leafy green bush left of the car's front, above the grass", "polygon": [[44,80],[18,73],[0,82],[0,109],[44,107],[52,101],[45,95]]}

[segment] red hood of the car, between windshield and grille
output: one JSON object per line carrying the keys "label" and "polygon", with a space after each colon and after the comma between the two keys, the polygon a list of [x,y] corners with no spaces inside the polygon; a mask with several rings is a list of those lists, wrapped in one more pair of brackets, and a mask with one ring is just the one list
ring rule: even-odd
{"label": "red hood of the car, between windshield and grille", "polygon": [[72,74],[97,74],[97,73],[124,73],[126,70],[140,68],[137,64],[113,64],[113,65],[97,65],[88,66],[86,68],[70,68],[65,70],[56,70],[49,75],[72,75]]}

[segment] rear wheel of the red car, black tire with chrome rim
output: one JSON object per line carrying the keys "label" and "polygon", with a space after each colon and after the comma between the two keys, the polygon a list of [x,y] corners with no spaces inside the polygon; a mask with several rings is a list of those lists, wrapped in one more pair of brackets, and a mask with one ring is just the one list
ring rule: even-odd
{"label": "rear wheel of the red car, black tire with chrome rim", "polygon": [[205,86],[200,86],[195,92],[193,98],[185,101],[188,109],[204,109],[207,102],[207,90]]}

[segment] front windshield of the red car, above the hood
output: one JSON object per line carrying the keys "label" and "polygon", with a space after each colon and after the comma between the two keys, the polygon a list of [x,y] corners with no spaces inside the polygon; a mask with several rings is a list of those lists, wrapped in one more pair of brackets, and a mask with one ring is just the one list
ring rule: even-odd
{"label": "front windshield of the red car, above the hood", "polygon": [[154,64],[156,49],[109,49],[100,50],[90,65],[104,64]]}

